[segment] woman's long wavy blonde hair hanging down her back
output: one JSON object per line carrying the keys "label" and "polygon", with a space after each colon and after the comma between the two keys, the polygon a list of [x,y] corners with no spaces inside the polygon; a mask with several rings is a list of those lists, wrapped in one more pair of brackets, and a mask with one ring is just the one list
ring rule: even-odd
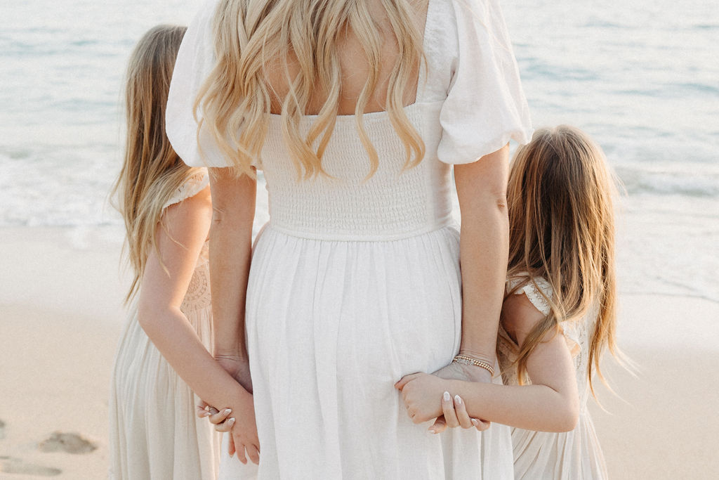
{"label": "woman's long wavy blonde hair hanging down her back", "polygon": [[[403,107],[408,86],[417,80],[422,38],[412,19],[410,0],[380,0],[391,24],[398,58],[388,78],[385,110],[406,150],[406,168],[418,165],[424,143]],[[423,1],[423,0],[421,0]],[[322,157],[329,143],[342,95],[340,45],[351,33],[359,40],[370,74],[354,109],[357,132],[370,158],[377,151],[362,113],[382,80],[380,25],[367,0],[221,0],[214,19],[216,67],[199,91],[196,117],[209,127],[238,174],[254,175],[273,105],[281,108],[282,131],[300,178],[326,175]],[[280,72],[288,91],[280,97],[270,73]],[[307,135],[299,122],[314,96],[326,97]],[[199,132],[199,128],[198,128]]]}

